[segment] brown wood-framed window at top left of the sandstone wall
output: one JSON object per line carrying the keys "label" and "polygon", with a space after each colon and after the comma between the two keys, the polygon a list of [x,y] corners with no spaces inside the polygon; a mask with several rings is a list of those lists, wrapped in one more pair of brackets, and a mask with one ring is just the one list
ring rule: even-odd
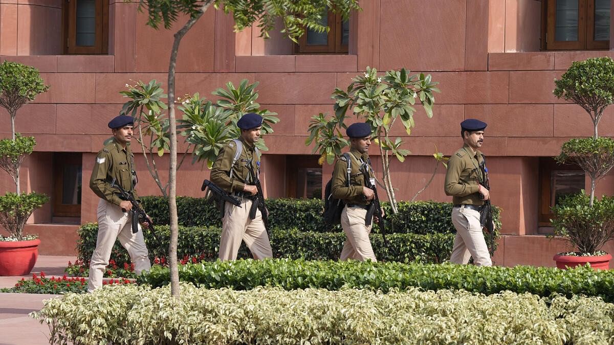
{"label": "brown wood-framed window at top left of the sandstone wall", "polygon": [[64,53],[109,53],[109,0],[64,0]]}

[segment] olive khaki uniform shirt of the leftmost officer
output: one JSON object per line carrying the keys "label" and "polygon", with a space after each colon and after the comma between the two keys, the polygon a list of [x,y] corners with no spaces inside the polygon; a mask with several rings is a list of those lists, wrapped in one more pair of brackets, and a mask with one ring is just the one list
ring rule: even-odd
{"label": "olive khaki uniform shirt of the leftmost officer", "polygon": [[119,206],[123,200],[120,199],[117,188],[111,188],[111,181],[115,179],[116,184],[132,191],[134,199],[139,200],[134,189],[133,171],[134,153],[130,146],[126,145],[122,149],[122,145],[113,139],[96,155],[96,163],[91,171],[90,189],[100,198]]}

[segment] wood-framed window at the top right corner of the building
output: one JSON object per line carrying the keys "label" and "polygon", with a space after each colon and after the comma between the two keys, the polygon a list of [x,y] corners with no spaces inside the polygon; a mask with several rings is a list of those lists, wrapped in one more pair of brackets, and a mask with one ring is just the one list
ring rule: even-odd
{"label": "wood-framed window at the top right corner of the building", "polygon": [[542,50],[610,47],[611,0],[542,1]]}

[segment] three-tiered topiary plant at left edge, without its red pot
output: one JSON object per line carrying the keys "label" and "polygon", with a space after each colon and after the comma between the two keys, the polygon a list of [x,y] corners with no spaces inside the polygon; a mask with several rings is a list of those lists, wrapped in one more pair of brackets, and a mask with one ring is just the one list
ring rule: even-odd
{"label": "three-tiered topiary plant at left edge, without its red pot", "polygon": [[[17,110],[47,90],[49,86],[36,68],[9,61],[0,64],[0,106],[9,113],[11,130],[11,139],[0,140],[0,168],[12,177],[16,190],[0,196],[0,224],[10,233],[8,239],[12,241],[26,239],[22,230],[29,216],[49,201],[44,194],[20,191],[19,169],[26,155],[33,152],[36,140],[15,130]],[[0,239],[4,238],[0,236]]]}

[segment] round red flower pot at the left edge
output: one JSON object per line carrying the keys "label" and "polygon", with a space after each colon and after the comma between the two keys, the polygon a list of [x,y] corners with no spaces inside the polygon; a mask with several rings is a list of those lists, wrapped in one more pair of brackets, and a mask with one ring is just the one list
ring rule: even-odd
{"label": "round red flower pot at the left edge", "polygon": [[31,241],[0,241],[0,276],[29,274],[38,258],[40,239]]}

